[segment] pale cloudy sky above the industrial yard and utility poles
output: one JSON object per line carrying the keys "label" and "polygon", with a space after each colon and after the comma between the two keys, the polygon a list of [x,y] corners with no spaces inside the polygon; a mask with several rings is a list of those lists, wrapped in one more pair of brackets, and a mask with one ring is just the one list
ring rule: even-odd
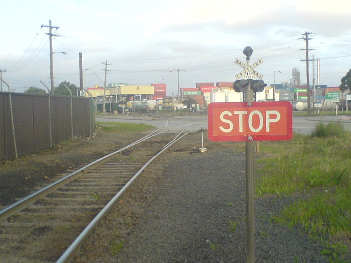
{"label": "pale cloudy sky above the industrial yard and utility poles", "polygon": [[[79,87],[82,53],[84,88],[103,87],[107,62],[107,84],[163,82],[167,95],[175,95],[177,69],[181,88],[234,82],[243,70],[234,61],[246,62],[247,46],[251,63],[263,61],[255,70],[265,83],[290,83],[297,68],[303,84],[308,32],[320,84],[336,87],[351,68],[349,10],[349,0],[0,0],[0,69],[15,92],[46,90],[41,81],[50,87],[49,28],[42,26],[51,21],[59,27],[53,29],[55,86]],[[312,73],[310,61],[310,84]]]}

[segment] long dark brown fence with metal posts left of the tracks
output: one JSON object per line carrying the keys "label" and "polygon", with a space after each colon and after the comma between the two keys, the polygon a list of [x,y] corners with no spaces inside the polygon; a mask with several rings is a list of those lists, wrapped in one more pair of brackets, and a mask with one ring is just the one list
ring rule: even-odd
{"label": "long dark brown fence with metal posts left of the tracks", "polygon": [[[71,97],[11,93],[11,99],[18,155],[43,150],[72,138]],[[72,97],[73,137],[93,134],[95,116],[92,106],[91,99]],[[15,156],[10,96],[3,92],[0,93],[0,160]]]}

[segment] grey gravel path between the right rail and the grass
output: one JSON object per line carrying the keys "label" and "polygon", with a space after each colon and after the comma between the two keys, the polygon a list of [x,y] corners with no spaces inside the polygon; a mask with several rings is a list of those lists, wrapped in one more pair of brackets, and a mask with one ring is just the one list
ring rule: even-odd
{"label": "grey gravel path between the right rail and the grass", "polygon": [[[160,175],[160,194],[127,231],[122,249],[114,255],[99,253],[90,261],[245,262],[244,171],[245,154],[229,149],[175,158]],[[309,241],[302,229],[270,221],[272,213],[292,201],[255,199],[256,262],[327,262],[319,254],[322,247]],[[230,221],[236,223],[235,230]],[[97,232],[101,235],[101,229]],[[96,244],[97,238],[93,235],[88,242]]]}

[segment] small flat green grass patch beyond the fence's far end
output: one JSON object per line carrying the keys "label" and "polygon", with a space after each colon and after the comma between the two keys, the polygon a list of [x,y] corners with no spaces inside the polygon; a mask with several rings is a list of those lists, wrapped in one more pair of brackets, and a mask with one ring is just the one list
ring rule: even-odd
{"label": "small flat green grass patch beyond the fence's far end", "polygon": [[138,133],[154,128],[152,125],[135,124],[135,123],[120,123],[120,122],[96,122],[96,125],[107,133]]}

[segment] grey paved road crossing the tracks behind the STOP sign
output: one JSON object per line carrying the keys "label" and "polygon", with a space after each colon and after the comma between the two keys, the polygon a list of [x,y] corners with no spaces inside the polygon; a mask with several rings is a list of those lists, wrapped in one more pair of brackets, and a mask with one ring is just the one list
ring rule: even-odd
{"label": "grey paved road crossing the tracks behind the STOP sign", "polygon": [[[97,116],[96,121],[102,122],[131,122],[131,123],[144,123],[155,126],[157,128],[163,126],[166,123],[166,119],[158,119],[147,116],[131,116],[131,115],[106,115]],[[207,128],[207,115],[189,115],[182,117],[170,117],[168,118],[169,125],[167,129],[177,129],[184,125],[183,120],[188,123],[187,130]],[[293,117],[293,131],[303,134],[310,134],[315,125],[319,122],[341,122],[344,124],[348,131],[351,131],[351,117],[348,116],[310,116],[310,117]]]}

